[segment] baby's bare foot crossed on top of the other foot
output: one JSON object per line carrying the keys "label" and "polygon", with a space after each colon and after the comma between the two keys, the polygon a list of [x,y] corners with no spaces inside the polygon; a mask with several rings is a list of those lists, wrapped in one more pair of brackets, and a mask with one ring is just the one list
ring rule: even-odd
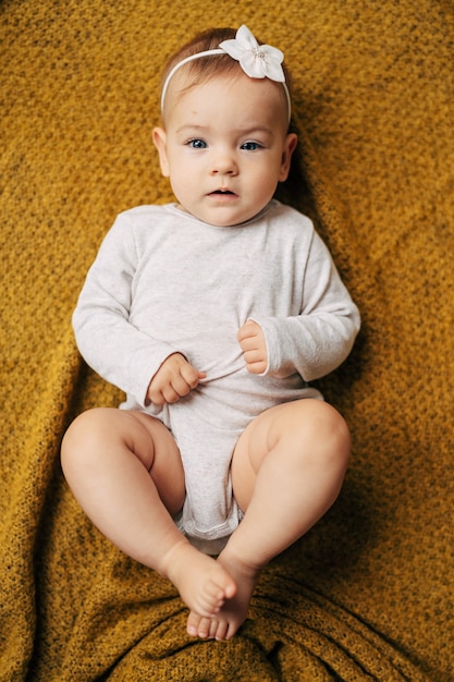
{"label": "baby's bare foot crossed on top of the other foot", "polygon": [[195,549],[187,540],[177,543],[167,553],[163,565],[163,574],[199,618],[214,617],[225,599],[236,594],[235,581],[222,564]]}

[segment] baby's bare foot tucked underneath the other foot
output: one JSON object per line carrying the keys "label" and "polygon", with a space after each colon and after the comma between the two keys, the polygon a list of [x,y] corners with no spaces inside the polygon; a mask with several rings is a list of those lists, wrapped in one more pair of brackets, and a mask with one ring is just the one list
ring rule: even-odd
{"label": "baby's bare foot tucked underneath the other foot", "polygon": [[230,640],[246,620],[259,572],[229,557],[228,548],[219,556],[218,563],[234,579],[236,593],[228,597],[219,611],[209,618],[195,611],[189,613],[187,632],[193,637]]}

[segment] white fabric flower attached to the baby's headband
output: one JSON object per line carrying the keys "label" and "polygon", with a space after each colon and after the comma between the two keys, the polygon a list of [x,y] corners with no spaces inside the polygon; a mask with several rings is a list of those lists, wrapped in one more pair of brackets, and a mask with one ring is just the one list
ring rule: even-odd
{"label": "white fabric flower attached to the baby's headband", "polygon": [[219,47],[236,59],[250,78],[285,82],[281,66],[284,60],[283,52],[271,45],[259,45],[247,26],[241,26],[234,39],[223,40]]}

